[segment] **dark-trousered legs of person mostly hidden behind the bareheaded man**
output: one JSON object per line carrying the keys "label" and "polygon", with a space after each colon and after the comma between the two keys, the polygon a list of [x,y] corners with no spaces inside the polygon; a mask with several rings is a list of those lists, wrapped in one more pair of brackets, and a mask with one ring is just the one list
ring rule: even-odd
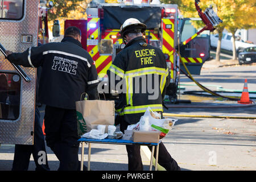
{"label": "dark-trousered legs of person mostly hidden behind the bareheaded man", "polygon": [[40,112],[38,107],[35,109],[35,133],[34,145],[16,144],[13,160],[13,171],[27,171],[30,164],[30,156],[33,155],[36,171],[49,171],[46,145],[42,125],[40,123]]}

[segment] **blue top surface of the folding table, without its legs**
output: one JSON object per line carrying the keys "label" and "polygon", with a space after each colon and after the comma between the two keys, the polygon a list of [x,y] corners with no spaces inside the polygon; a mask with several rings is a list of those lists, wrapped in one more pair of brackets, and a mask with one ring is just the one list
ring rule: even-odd
{"label": "blue top surface of the folding table, without its legs", "polygon": [[116,143],[116,144],[144,144],[144,145],[152,145],[157,146],[158,143],[144,143],[144,142],[133,142],[132,140],[123,140],[123,139],[89,139],[89,138],[80,138],[79,142],[90,142],[90,143]]}

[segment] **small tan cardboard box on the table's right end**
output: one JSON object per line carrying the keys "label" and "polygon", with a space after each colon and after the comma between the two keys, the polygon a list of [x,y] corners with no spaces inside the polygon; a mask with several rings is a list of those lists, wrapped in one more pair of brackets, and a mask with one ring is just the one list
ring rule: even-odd
{"label": "small tan cardboard box on the table's right end", "polygon": [[133,142],[158,143],[158,131],[133,131]]}

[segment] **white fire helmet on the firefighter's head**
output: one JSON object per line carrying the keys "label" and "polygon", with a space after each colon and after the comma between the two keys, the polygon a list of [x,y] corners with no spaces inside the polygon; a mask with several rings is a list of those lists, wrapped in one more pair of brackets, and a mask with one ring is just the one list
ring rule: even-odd
{"label": "white fire helmet on the firefighter's head", "polygon": [[124,36],[129,32],[144,32],[146,28],[146,24],[141,23],[138,19],[129,18],[123,22],[119,33],[121,34],[121,37],[124,38]]}

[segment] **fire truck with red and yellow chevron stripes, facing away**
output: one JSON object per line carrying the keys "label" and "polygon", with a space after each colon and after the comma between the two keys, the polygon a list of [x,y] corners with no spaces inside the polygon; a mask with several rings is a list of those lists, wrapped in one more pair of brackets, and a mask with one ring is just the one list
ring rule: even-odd
{"label": "fire truck with red and yellow chevron stripes, facing away", "polygon": [[[76,26],[81,29],[82,46],[95,61],[98,75],[105,77],[115,56],[125,46],[119,35],[119,28],[126,19],[137,18],[147,25],[144,34],[147,43],[162,49],[166,55],[171,75],[167,94],[175,98],[180,69],[183,69],[176,52],[177,47],[179,42],[184,42],[200,30],[201,27],[196,27],[196,22],[202,21],[200,18],[178,18],[177,5],[152,2],[150,3],[149,0],[138,3],[132,0],[119,3],[92,1],[86,9],[87,20],[66,20],[64,28]],[[210,57],[209,38],[210,32],[205,30],[180,50],[181,60],[194,75],[200,74],[204,61]]]}

